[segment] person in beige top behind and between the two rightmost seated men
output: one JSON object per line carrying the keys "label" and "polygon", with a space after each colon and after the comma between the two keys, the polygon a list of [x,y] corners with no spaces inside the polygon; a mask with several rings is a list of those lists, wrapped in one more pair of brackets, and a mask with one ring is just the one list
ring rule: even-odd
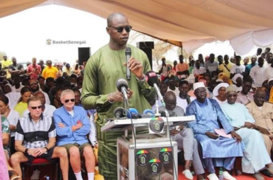
{"label": "person in beige top behind and between the two rightmost seated men", "polygon": [[250,101],[252,101],[253,93],[250,92],[251,88],[252,88],[252,79],[248,77],[244,79],[244,83],[242,85],[242,91],[238,92],[236,102],[246,105]]}

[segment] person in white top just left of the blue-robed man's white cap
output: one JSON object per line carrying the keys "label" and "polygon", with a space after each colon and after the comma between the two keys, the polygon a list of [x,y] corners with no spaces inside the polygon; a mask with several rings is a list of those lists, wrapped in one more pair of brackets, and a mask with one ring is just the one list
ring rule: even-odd
{"label": "person in white top just left of the blue-robed man's white cap", "polygon": [[184,112],[186,112],[186,107],[187,105],[189,105],[190,103],[192,103],[192,101],[194,101],[194,99],[196,99],[195,97],[190,97],[187,92],[190,91],[190,84],[187,80],[181,80],[179,82],[179,95],[177,96],[177,105],[179,107],[182,107]]}

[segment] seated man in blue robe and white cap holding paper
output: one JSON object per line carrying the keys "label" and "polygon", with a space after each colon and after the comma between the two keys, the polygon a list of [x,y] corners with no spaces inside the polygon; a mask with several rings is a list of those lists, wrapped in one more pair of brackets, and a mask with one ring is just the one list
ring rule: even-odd
{"label": "seated man in blue robe and white cap holding paper", "polygon": [[[210,180],[218,180],[214,166],[231,170],[235,157],[243,156],[244,144],[241,137],[235,133],[233,127],[224,116],[220,105],[214,99],[207,98],[206,88],[203,82],[194,83],[194,95],[196,100],[187,106],[187,116],[196,116],[196,121],[189,126],[194,131],[194,138],[200,142],[203,149],[203,159],[208,168]],[[220,129],[219,123],[226,133],[231,133],[234,138],[219,138],[215,129]],[[235,179],[224,170],[224,179]]]}

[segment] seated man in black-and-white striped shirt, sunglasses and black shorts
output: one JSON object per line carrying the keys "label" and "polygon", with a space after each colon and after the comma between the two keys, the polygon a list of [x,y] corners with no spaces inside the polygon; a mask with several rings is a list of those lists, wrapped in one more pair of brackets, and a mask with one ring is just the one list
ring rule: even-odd
{"label": "seated man in black-and-white striped shirt, sunglasses and black shorts", "polygon": [[[63,179],[68,180],[66,149],[55,147],[56,129],[52,118],[42,115],[42,103],[38,97],[27,100],[29,116],[20,118],[15,133],[16,153],[10,157],[12,167],[22,176],[21,162],[31,163],[36,157],[51,160],[60,158]],[[36,133],[39,131],[39,133]]]}

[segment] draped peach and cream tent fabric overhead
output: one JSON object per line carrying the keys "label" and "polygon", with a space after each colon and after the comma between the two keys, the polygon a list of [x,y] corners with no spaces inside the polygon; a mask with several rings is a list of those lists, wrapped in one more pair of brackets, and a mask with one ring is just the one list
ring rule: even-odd
{"label": "draped peach and cream tent fabric overhead", "polygon": [[136,31],[172,44],[182,42],[188,53],[215,40],[230,40],[240,55],[254,44],[273,43],[272,0],[1,0],[0,17],[50,4],[103,18],[122,12]]}

